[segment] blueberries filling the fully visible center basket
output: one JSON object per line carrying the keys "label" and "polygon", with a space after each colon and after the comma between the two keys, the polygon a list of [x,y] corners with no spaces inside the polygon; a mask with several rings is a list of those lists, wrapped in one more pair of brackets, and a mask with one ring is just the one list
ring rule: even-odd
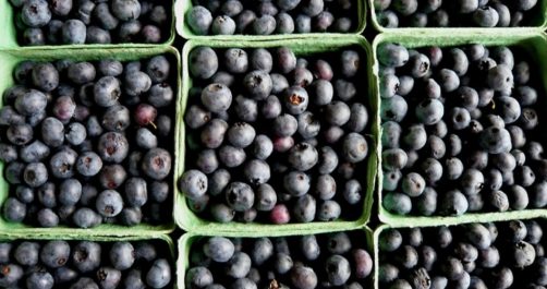
{"label": "blueberries filling the fully visible center basket", "polygon": [[193,49],[179,179],[191,209],[219,222],[361,217],[374,142],[357,49]]}

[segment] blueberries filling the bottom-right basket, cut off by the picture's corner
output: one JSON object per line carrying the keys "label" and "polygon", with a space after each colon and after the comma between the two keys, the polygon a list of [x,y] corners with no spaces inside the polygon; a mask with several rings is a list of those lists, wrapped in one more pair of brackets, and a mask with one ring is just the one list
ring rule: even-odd
{"label": "blueberries filling the bottom-right basket, cut off by the picture's corner", "polygon": [[545,288],[544,220],[386,229],[380,288]]}

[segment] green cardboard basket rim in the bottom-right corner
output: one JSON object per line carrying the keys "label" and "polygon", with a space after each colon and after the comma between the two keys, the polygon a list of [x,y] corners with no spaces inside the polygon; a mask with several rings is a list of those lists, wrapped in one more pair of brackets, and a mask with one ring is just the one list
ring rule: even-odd
{"label": "green cardboard basket rim in the bottom-right corner", "polygon": [[[543,215],[542,218],[545,219],[547,215]],[[514,219],[520,219],[520,220],[525,220],[525,219],[536,219],[536,218],[539,218],[539,217],[534,217],[534,216],[527,216],[527,217],[523,217],[523,218],[513,218],[511,216],[505,216],[502,218],[499,218],[499,219],[491,219],[489,217],[484,217],[482,218],[481,220],[477,220],[477,221],[474,221],[474,222],[490,222],[490,221],[509,221],[509,220],[514,220]],[[408,224],[400,224],[400,225],[397,225],[397,226],[389,226],[389,225],[381,225],[379,226],[378,228],[376,228],[376,230],[374,230],[374,268],[373,268],[373,272],[374,272],[374,288],[375,289],[379,289],[380,286],[379,286],[379,281],[378,281],[378,276],[379,276],[379,265],[380,265],[380,250],[379,250],[379,244],[378,244],[378,240],[379,240],[379,237],[381,234],[381,232],[384,232],[385,230],[388,230],[388,229],[411,229],[411,228],[426,228],[426,227],[441,227],[441,226],[448,226],[448,227],[451,227],[451,226],[457,226],[457,225],[463,225],[463,224],[437,224],[437,225],[431,225],[431,224],[427,224],[427,225],[416,225],[415,222],[413,221],[409,221]],[[181,252],[181,251],[179,251]]]}

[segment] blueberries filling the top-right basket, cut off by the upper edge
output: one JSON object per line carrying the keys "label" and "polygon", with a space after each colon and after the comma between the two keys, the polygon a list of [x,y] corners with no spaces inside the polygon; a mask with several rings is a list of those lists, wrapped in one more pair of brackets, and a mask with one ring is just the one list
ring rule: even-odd
{"label": "blueberries filling the top-right basket, cut off by the upper edge", "polygon": [[378,23],[396,27],[518,27],[539,14],[537,0],[374,0]]}

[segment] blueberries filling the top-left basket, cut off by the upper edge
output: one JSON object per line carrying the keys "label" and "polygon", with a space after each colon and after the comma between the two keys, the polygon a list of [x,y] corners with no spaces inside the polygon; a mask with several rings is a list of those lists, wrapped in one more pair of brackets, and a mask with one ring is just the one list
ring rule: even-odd
{"label": "blueberries filling the top-left basket, cut off by the upper edge", "polygon": [[169,1],[10,0],[22,45],[158,44],[171,29]]}

